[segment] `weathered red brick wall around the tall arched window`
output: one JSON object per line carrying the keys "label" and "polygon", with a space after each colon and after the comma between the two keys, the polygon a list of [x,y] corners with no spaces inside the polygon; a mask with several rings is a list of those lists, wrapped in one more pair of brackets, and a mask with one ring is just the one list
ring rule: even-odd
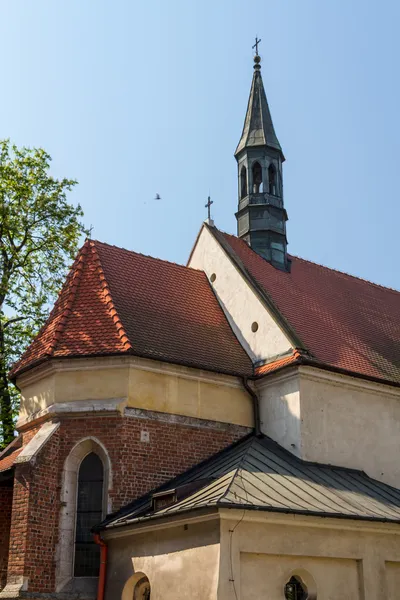
{"label": "weathered red brick wall around the tall arched window", "polygon": [[[148,442],[141,441],[142,431],[148,433]],[[62,471],[80,440],[95,437],[107,449],[112,508],[117,510],[244,433],[240,427],[188,426],[120,415],[63,419],[35,465],[16,468],[8,576],[28,577],[33,593],[54,591]]]}

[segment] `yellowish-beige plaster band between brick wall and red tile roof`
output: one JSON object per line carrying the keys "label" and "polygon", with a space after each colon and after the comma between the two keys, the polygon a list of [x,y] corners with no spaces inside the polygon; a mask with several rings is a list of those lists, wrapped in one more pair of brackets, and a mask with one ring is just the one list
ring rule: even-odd
{"label": "yellowish-beige plaster band between brick wall and red tile roof", "polygon": [[119,401],[142,408],[251,427],[240,379],[145,359],[58,361],[22,377],[20,422],[54,404]]}

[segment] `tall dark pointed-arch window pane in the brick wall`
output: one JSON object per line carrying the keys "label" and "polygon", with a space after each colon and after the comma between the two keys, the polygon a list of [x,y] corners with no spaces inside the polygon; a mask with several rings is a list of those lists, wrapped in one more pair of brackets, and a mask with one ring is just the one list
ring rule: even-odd
{"label": "tall dark pointed-arch window pane in the brick wall", "polygon": [[78,475],[75,528],[75,577],[97,577],[100,547],[91,529],[103,516],[104,468],[100,457],[90,452],[82,461]]}

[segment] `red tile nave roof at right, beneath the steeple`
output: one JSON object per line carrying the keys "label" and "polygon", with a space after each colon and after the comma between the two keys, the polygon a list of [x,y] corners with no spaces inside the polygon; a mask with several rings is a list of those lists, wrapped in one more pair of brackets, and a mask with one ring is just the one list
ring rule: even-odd
{"label": "red tile nave roof at right, beneath the steeple", "polygon": [[279,271],[237,237],[211,228],[272,301],[293,345],[324,365],[400,384],[400,292],[292,257]]}

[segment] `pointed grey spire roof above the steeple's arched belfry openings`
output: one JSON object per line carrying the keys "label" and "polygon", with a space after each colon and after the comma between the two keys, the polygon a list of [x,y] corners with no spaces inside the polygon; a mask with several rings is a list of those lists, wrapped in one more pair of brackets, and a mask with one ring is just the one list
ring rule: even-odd
{"label": "pointed grey spire roof above the steeple's arched belfry openings", "polygon": [[[272,123],[267,96],[261,77],[261,58],[254,57],[254,75],[251,84],[249,103],[244,121],[242,137],[236,148],[235,156],[244,148],[254,146],[269,146],[278,150],[283,157],[283,152]],[[284,157],[283,157],[284,158]]]}

